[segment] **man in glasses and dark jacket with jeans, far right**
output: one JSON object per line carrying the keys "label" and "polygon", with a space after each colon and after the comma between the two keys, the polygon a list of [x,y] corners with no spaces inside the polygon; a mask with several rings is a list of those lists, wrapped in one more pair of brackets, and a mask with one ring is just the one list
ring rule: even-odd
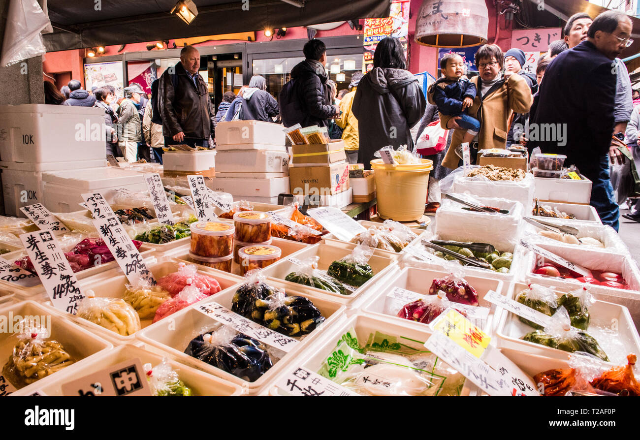
{"label": "man in glasses and dark jacket with jeans, far right", "polygon": [[543,153],[566,154],[564,164],[577,166],[593,182],[591,206],[598,211],[602,223],[616,230],[619,211],[612,200],[608,157],[617,153],[611,139],[617,79],[613,60],[625,49],[632,27],[624,13],[604,12],[593,20],[586,41],[554,59],[545,72],[531,121],[536,125],[530,131],[537,127],[539,134],[555,132],[564,136],[529,139],[527,145],[540,146]]}

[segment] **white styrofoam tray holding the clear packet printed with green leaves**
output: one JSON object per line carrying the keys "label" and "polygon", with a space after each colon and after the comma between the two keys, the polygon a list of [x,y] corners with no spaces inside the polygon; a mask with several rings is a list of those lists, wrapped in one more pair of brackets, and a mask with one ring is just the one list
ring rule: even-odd
{"label": "white styrofoam tray holding the clear packet printed with green leaves", "polygon": [[[269,395],[281,395],[279,390],[275,388],[275,382],[282,377],[282,375],[289,373],[289,370],[296,366],[301,366],[312,372],[318,372],[324,361],[332,354],[337,348],[342,335],[349,331],[355,331],[355,336],[358,339],[358,345],[364,347],[367,344],[369,336],[375,333],[385,334],[390,336],[388,340],[389,344],[400,343],[404,345],[404,349],[415,349],[417,351],[425,352],[424,342],[429,339],[429,336],[433,334],[428,326],[418,324],[406,320],[406,323],[398,323],[396,321],[387,320],[383,317],[375,315],[369,315],[368,313],[358,313],[349,317],[346,320],[335,324],[331,331],[327,331],[323,334],[314,344],[305,351],[304,356],[300,356],[296,359],[296,363],[291,363],[287,371],[280,373],[275,380],[271,382],[268,391]],[[447,383],[445,381],[445,383]],[[460,392],[461,396],[468,396],[470,393],[477,393],[477,387],[470,381],[465,380],[463,389]],[[435,393],[435,391],[434,391]]]}

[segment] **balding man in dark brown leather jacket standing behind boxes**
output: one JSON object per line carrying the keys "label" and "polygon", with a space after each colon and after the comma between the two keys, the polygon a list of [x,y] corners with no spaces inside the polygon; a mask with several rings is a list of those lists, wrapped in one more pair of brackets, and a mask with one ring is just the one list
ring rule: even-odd
{"label": "balding man in dark brown leather jacket standing behind boxes", "polygon": [[215,137],[216,113],[199,67],[200,52],[185,46],[180,62],[160,77],[158,107],[166,145],[208,146],[209,136]]}

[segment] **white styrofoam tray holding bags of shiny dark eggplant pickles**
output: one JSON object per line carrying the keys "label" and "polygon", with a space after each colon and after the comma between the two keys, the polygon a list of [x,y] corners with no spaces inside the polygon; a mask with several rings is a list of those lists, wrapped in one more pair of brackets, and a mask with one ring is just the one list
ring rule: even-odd
{"label": "white styrofoam tray holding bags of shiny dark eggplant pickles", "polygon": [[[203,313],[200,313],[193,307],[174,313],[172,315],[173,320],[171,323],[169,323],[168,320],[163,320],[141,330],[138,333],[138,339],[148,345],[152,345],[158,349],[168,352],[174,359],[177,359],[181,363],[194,366],[199,370],[221,377],[222,379],[226,379],[234,384],[240,384],[243,388],[248,388],[251,395],[258,394],[269,384],[269,382],[271,382],[273,378],[276,377],[279,372],[282,371],[283,368],[290,366],[291,363],[295,361],[296,357],[298,357],[302,352],[305,352],[305,349],[310,345],[310,343],[316,340],[323,331],[330,329],[332,325],[335,324],[342,315],[344,315],[344,306],[334,301],[330,301],[325,297],[310,294],[306,290],[289,288],[284,283],[279,283],[275,280],[269,279],[266,282],[278,289],[285,288],[287,295],[307,297],[321,311],[326,320],[321,324],[321,326],[317,327],[314,331],[305,336],[305,338],[302,338],[300,343],[291,349],[289,353],[285,354],[280,350],[275,350],[280,353],[282,357],[277,361],[272,357],[271,360],[274,361],[273,366],[255,382],[244,381],[231,373],[227,373],[205,363],[204,361],[200,361],[200,359],[196,359],[195,357],[184,353],[184,350],[188,347],[191,339],[198,336],[198,334],[202,334],[205,329],[214,327],[217,323],[217,321],[207,317]],[[200,304],[216,302],[230,309],[232,307],[232,299],[234,294],[236,294],[236,290],[237,287],[230,287],[219,294],[213,295]],[[273,350],[270,349],[270,352],[273,353]]]}

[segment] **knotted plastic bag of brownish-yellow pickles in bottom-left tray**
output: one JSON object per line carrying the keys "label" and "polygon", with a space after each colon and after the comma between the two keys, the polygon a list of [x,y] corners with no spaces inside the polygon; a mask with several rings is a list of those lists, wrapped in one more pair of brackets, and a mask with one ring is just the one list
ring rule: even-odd
{"label": "knotted plastic bag of brownish-yellow pickles in bottom-left tray", "polygon": [[15,388],[24,388],[75,362],[60,342],[47,340],[50,333],[46,327],[34,325],[27,318],[17,325],[18,342],[2,370]]}

